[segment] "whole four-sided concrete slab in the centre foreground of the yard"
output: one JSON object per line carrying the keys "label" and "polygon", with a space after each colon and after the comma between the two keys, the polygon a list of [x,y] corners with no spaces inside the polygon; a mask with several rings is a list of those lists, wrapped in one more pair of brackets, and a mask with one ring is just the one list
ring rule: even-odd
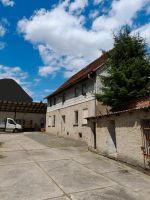
{"label": "whole four-sided concrete slab in the centre foreground of the yard", "polygon": [[103,188],[115,184],[71,160],[48,161],[39,164],[66,193]]}

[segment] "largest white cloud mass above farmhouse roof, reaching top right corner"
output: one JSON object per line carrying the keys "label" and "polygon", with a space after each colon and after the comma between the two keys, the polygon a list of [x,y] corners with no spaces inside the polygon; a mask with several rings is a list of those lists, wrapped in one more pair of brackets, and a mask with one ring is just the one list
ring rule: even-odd
{"label": "largest white cloud mass above farmhouse roof, reaching top right corner", "polygon": [[20,20],[18,31],[39,50],[44,63],[39,68],[41,76],[64,69],[64,76],[68,77],[100,56],[99,49],[111,49],[112,31],[125,24],[132,25],[137,12],[148,1],[113,0],[108,15],[98,16],[92,27],[86,29],[86,18],[74,11],[83,10],[87,1],[80,1],[84,2],[81,6],[79,1],[66,0],[51,10],[40,9],[29,19]]}

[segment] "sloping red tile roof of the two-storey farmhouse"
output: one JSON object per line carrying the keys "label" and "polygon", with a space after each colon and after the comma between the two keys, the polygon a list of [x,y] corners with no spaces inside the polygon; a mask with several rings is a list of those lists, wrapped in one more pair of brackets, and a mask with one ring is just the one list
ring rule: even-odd
{"label": "sloping red tile roof of the two-storey farmhouse", "polygon": [[95,72],[98,68],[100,68],[101,65],[106,61],[106,59],[107,59],[107,55],[105,53],[101,57],[97,58],[92,63],[90,63],[83,69],[81,69],[79,72],[77,72],[71,78],[69,78],[57,90],[55,90],[52,94],[50,94],[46,98],[52,97],[52,96],[62,92],[63,90],[69,88],[70,86],[76,84],[77,82],[83,80],[84,78],[87,78],[88,74]]}

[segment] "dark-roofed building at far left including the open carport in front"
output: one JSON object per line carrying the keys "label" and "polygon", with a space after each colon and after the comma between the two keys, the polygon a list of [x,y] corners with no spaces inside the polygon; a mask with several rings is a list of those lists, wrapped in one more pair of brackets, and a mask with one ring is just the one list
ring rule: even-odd
{"label": "dark-roofed building at far left including the open carport in front", "polygon": [[45,128],[47,104],[32,98],[13,79],[0,80],[0,120],[12,118],[24,130]]}

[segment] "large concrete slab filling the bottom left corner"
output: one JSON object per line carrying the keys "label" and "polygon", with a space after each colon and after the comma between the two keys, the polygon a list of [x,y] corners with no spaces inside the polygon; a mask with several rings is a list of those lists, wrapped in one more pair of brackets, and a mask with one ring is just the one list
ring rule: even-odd
{"label": "large concrete slab filling the bottom left corner", "polygon": [[0,199],[43,200],[63,195],[35,164],[0,166]]}

